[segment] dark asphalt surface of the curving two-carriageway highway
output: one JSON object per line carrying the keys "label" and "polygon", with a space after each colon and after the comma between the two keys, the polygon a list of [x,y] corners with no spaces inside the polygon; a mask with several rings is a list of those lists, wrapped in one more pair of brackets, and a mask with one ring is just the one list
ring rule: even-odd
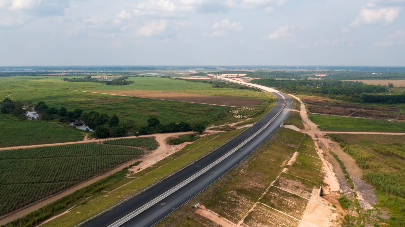
{"label": "dark asphalt surface of the curving two-carriageway highway", "polygon": [[168,216],[181,207],[183,204],[194,198],[201,191],[207,188],[209,185],[214,183],[217,179],[222,177],[226,172],[231,170],[234,166],[239,164],[243,159],[245,159],[250,153],[252,153],[256,148],[258,148],[266,139],[268,139],[274,132],[279,128],[280,124],[286,120],[290,114],[290,109],[292,109],[292,100],[290,97],[283,93],[273,92],[277,97],[277,103],[266,114],[259,122],[254,124],[251,128],[242,132],[239,136],[235,137],[228,143],[224,144],[222,147],[219,147],[209,155],[198,160],[194,164],[184,168],[183,170],[177,172],[176,174],[164,179],[154,187],[149,188],[148,190],[136,195],[134,198],[128,200],[127,202],[109,210],[108,212],[96,217],[95,219],[83,224],[83,227],[107,227],[114,223],[115,221],[121,219],[127,214],[133,212],[134,210],[142,207],[147,202],[150,202],[157,196],[161,195],[165,191],[175,187],[179,183],[183,182],[185,179],[188,179],[198,171],[202,170],[209,164],[215,162],[220,157],[224,156],[226,153],[240,145],[247,138],[252,136],[260,128],[262,128],[266,123],[271,121],[283,107],[285,97],[286,105],[284,106],[283,111],[280,115],[273,120],[273,122],[267,126],[262,132],[260,132],[256,137],[250,140],[248,143],[240,147],[237,151],[232,153],[225,160],[200,175],[194,181],[188,183],[181,189],[177,190],[173,194],[164,198],[157,204],[151,206],[149,209],[145,210],[141,214],[138,214],[134,218],[130,219],[124,223],[123,227],[149,227],[153,226],[164,217]]}

